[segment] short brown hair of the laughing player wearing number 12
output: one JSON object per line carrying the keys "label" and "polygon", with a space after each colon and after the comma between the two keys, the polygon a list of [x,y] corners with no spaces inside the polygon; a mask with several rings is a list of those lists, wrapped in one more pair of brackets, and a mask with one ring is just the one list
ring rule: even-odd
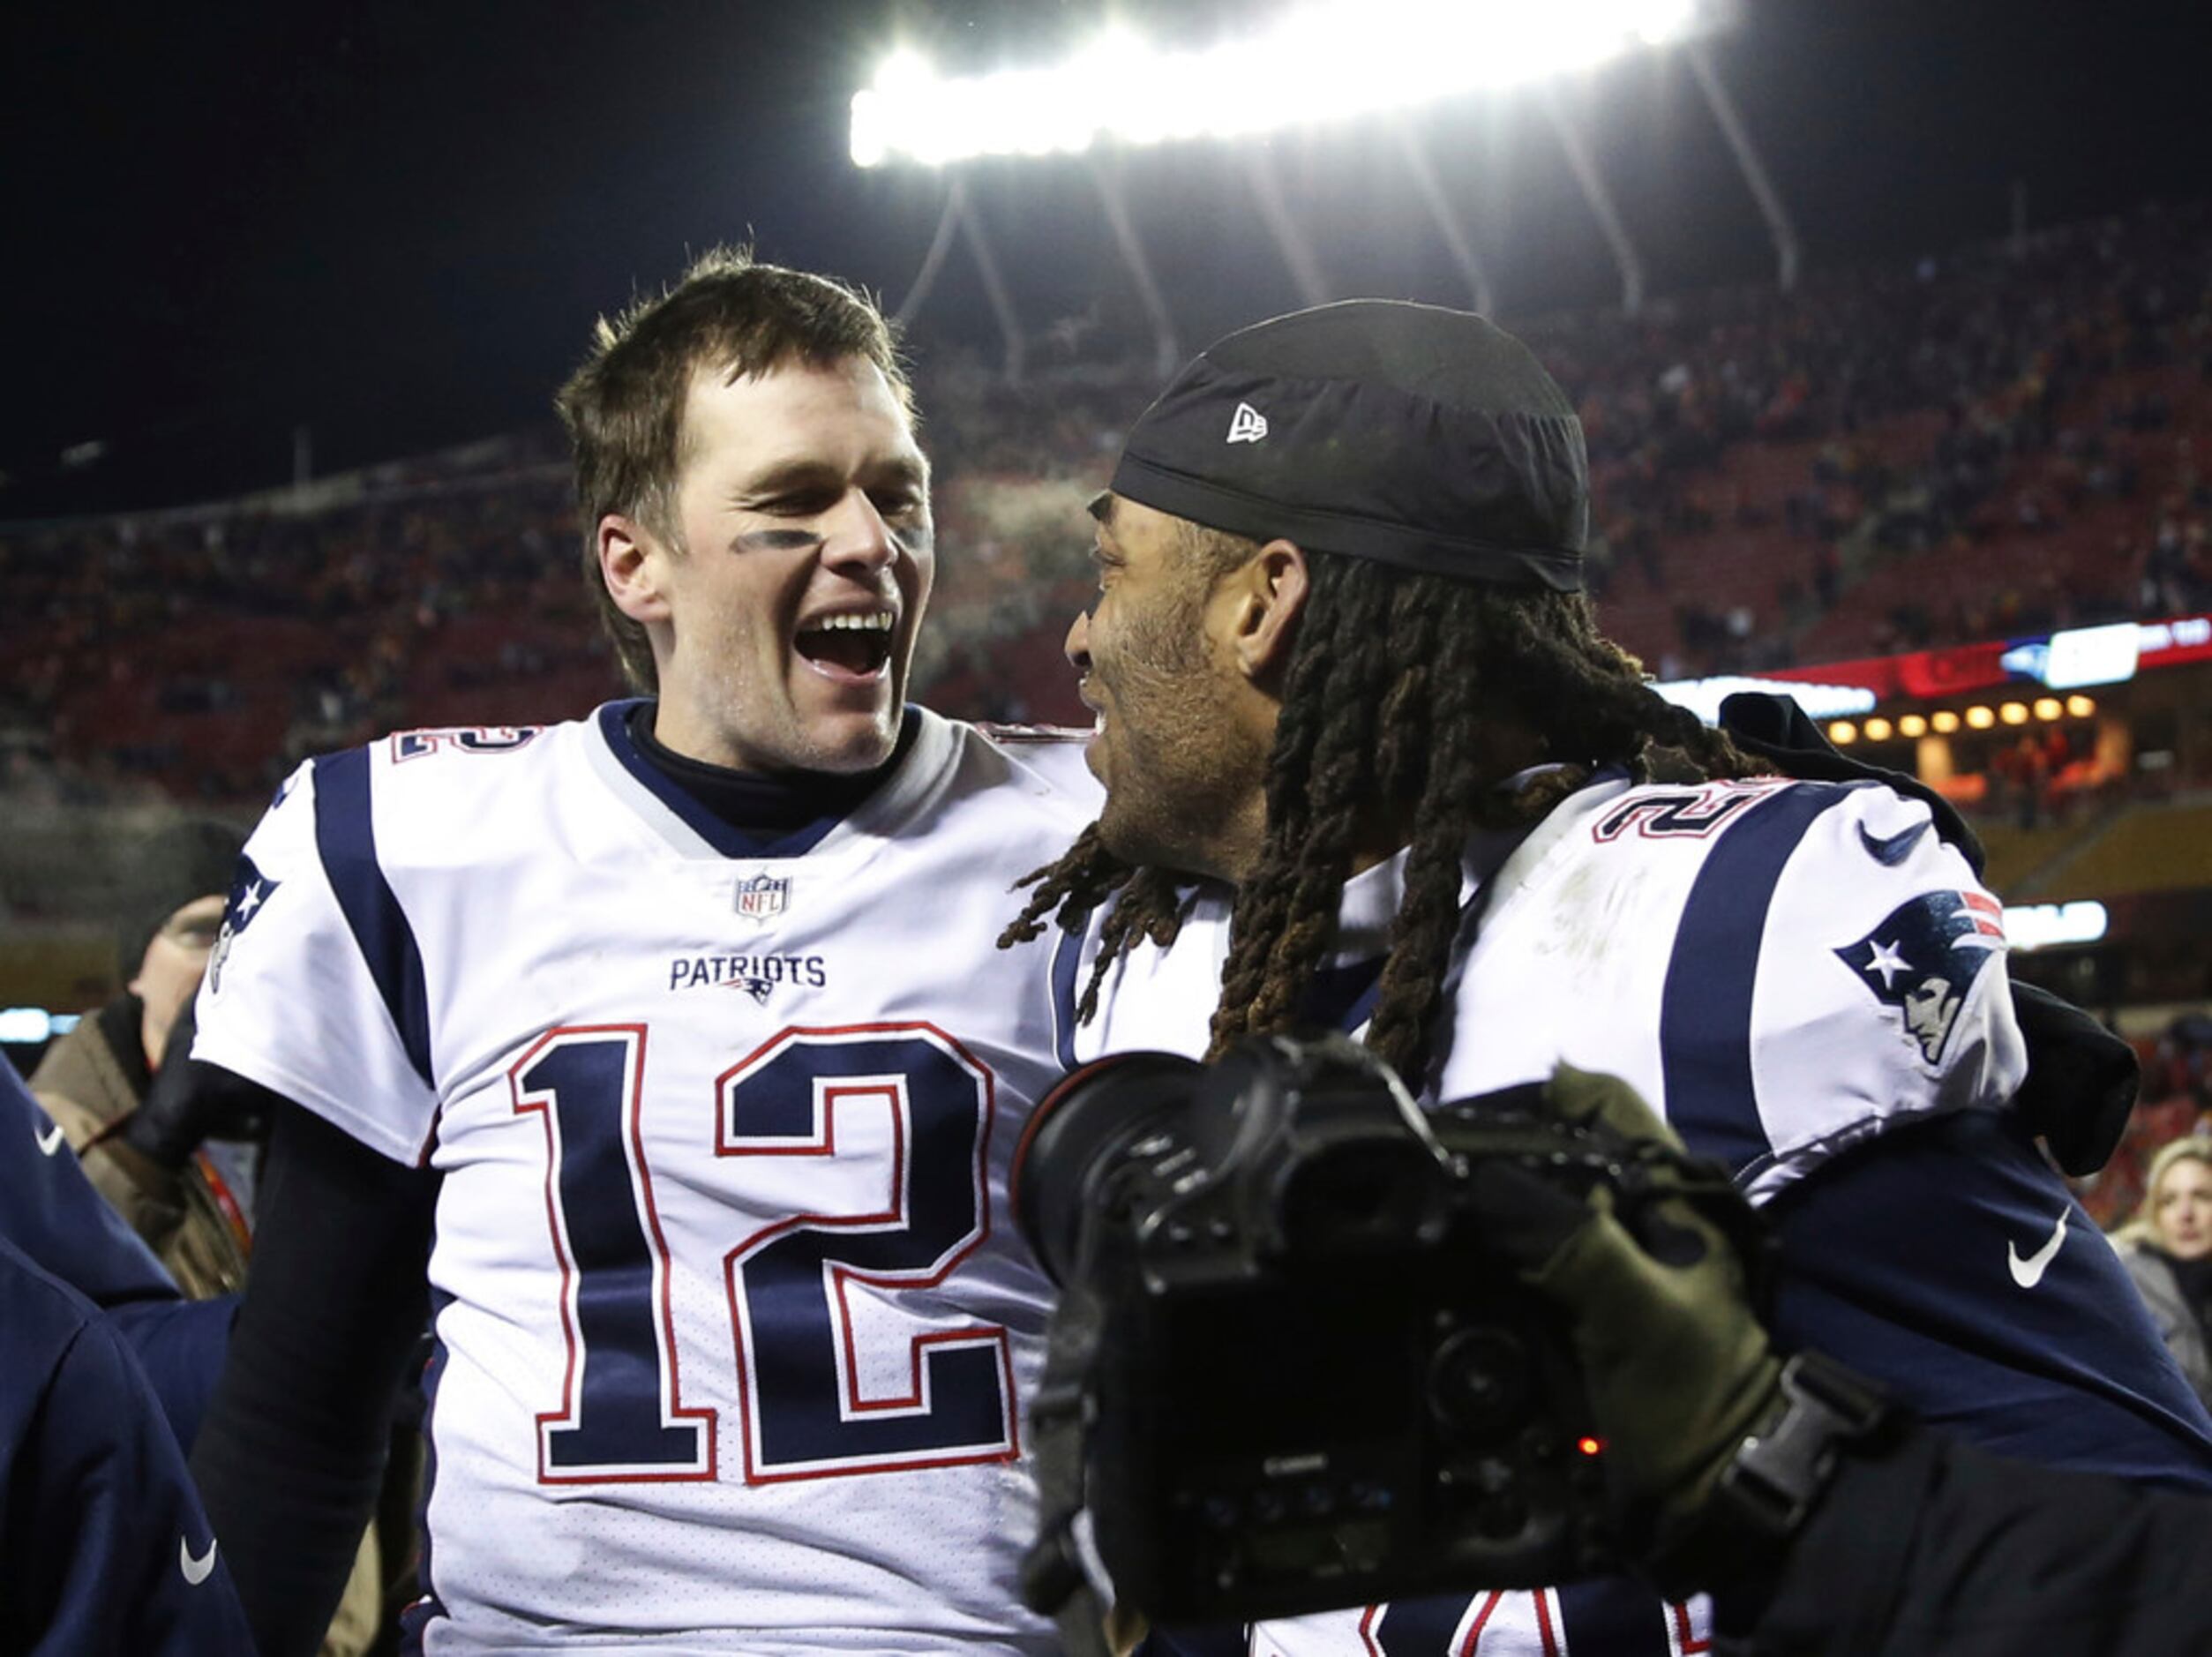
{"label": "short brown hair of the laughing player wearing number 12", "polygon": [[754,263],[748,248],[714,248],[668,292],[599,319],[591,356],[553,405],[575,449],[584,577],[635,688],[653,692],[659,677],[646,628],[615,608],[606,591],[599,520],[635,518],[681,551],[675,489],[692,376],[712,367],[743,378],[794,358],[827,367],[854,356],[883,369],[911,420],[914,392],[874,301],[832,277]]}

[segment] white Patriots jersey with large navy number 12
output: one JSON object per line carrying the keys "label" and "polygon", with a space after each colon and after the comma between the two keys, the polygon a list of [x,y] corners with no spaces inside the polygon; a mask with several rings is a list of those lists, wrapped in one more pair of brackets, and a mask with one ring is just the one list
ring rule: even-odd
{"label": "white Patriots jersey with large navy number 12", "polygon": [[1057,1069],[995,938],[1095,788],[920,712],[757,847],[622,712],[303,765],[201,993],[197,1057],[442,1173],[425,1648],[1051,1650],[1004,1177]]}

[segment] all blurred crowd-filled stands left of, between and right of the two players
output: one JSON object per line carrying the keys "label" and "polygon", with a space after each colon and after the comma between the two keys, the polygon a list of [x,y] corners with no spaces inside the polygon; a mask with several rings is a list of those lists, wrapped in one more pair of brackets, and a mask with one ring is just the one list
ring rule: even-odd
{"label": "all blurred crowd-filled stands left of, between and right of the two players", "polygon": [[[1608,631],[1661,677],[2212,608],[2212,219],[1515,321],[1575,398]],[[940,591],[918,690],[1079,719],[1082,502],[1144,365],[922,356]],[[11,792],[250,801],[374,730],[615,690],[557,436],[307,491],[0,527]],[[2020,790],[2013,790],[2015,794]]]}

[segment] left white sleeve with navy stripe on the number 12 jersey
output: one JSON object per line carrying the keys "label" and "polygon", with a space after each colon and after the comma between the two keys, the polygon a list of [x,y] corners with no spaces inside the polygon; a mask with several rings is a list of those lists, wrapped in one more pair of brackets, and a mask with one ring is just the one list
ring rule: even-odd
{"label": "left white sleeve with navy stripe on the number 12 jersey", "polygon": [[192,1057],[414,1164],[438,1095],[422,960],[376,858],[369,752],[303,763],[248,838]]}

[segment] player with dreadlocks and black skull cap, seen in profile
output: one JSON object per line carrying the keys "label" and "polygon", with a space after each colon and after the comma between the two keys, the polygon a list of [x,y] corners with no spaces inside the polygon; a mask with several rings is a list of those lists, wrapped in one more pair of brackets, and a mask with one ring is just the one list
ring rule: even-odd
{"label": "player with dreadlocks and black skull cap, seen in profile", "polygon": [[[1429,1102],[1619,1075],[1767,1208],[1785,1349],[2013,1453],[2212,1489],[2212,1420],[2035,1150],[2002,907],[1911,783],[1772,774],[1599,635],[1582,427],[1526,347],[1385,301],[1248,327],[1093,518],[1068,657],[1108,796],[1000,940],[1057,923],[1064,1062],[1334,1024]],[[1475,1630],[1714,1633],[1624,1577],[1252,1648]]]}

